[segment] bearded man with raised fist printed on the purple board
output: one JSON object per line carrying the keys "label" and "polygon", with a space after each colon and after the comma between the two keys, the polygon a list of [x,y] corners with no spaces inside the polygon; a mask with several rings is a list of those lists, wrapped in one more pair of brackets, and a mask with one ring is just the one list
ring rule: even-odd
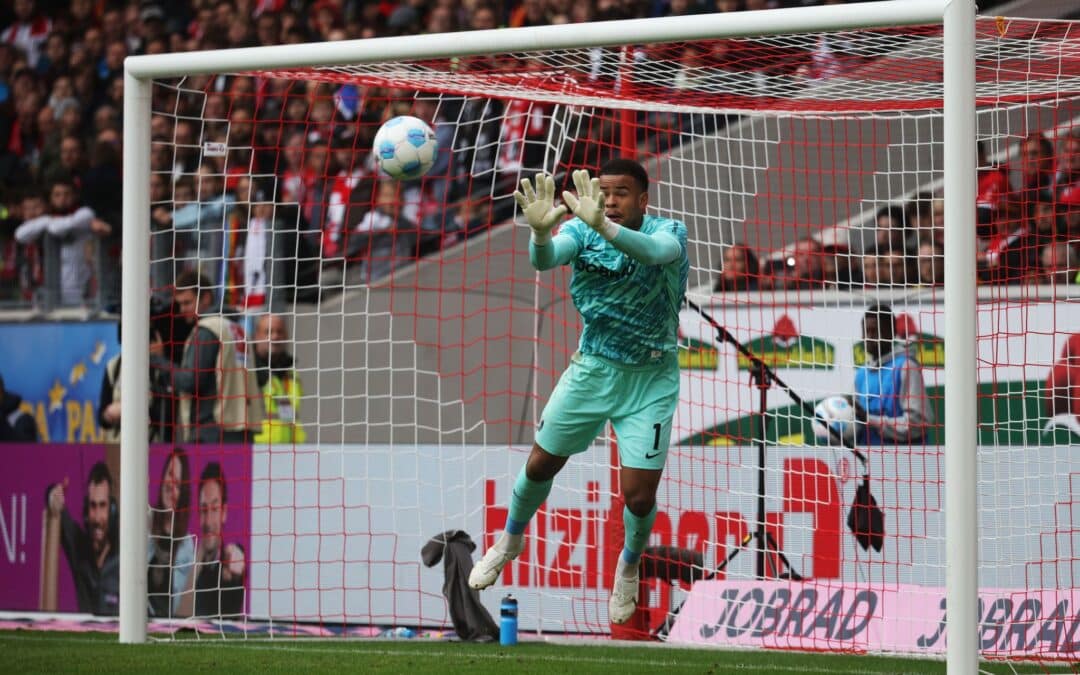
{"label": "bearded man with raised fist printed on the purple board", "polygon": [[114,617],[120,613],[120,518],[112,473],[105,462],[90,468],[82,527],[67,512],[66,487],[67,478],[51,486],[45,504],[48,517],[60,522],[60,546],[75,580],[79,611]]}

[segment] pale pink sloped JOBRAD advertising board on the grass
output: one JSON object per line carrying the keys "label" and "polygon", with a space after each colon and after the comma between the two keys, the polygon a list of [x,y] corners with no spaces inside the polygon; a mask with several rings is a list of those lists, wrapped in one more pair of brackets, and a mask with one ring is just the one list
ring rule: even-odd
{"label": "pale pink sloped JOBRAD advertising board on the grass", "polygon": [[[1080,592],[982,589],[984,656],[1075,658]],[[700,581],[673,643],[774,649],[944,653],[945,589],[840,581]]]}

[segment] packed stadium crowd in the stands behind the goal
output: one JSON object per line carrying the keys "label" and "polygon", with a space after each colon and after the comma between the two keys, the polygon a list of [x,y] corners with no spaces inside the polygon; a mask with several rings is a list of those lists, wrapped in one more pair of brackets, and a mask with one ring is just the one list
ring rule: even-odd
{"label": "packed stadium crowd in the stands behind the goal", "polygon": [[[834,1],[14,0],[0,9],[0,302],[118,306],[129,55]],[[836,64],[816,56],[805,66],[833,75]],[[529,144],[507,137],[527,141],[544,131],[524,112],[492,111],[472,99],[458,109],[444,102],[435,119],[431,102],[411,102],[407,92],[379,96],[347,82],[192,77],[183,89],[158,84],[153,95],[154,109],[168,111],[151,122],[151,242],[161,261],[151,270],[153,286],[167,291],[180,271],[194,269],[219,288],[242,288],[218,301],[248,309],[264,306],[269,285],[316,299],[319,275],[340,269],[341,260],[378,276],[396,259],[504,219],[505,211],[472,188],[485,173],[535,165]],[[408,103],[399,110],[402,102]],[[480,107],[461,109],[472,105]],[[423,193],[379,180],[362,151],[378,123],[399,112],[430,119],[443,147],[469,140],[467,158],[464,148],[441,153],[430,176],[445,178],[424,181]],[[227,141],[228,150],[199,152],[205,141]],[[1080,202],[1080,140],[1038,135],[1021,146],[1017,166],[981,176],[981,278],[1072,283],[1070,242],[1080,224],[1069,205]],[[469,171],[449,171],[451,156]],[[883,205],[877,241],[866,251],[828,235],[778,254],[728,247],[716,289],[937,284],[941,205],[940,194]],[[279,237],[287,231],[292,238]],[[253,233],[262,238],[258,245]]]}

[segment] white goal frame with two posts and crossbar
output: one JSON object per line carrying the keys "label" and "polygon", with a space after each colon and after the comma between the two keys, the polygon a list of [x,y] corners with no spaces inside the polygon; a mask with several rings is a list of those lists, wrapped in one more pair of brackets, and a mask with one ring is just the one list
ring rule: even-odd
{"label": "white goal frame with two posts and crossbar", "polygon": [[[887,0],[535,28],[377,38],[212,52],[132,56],[124,62],[123,294],[124,392],[121,428],[120,642],[147,637],[147,498],[150,278],[150,91],[156,78],[448,58],[627,42],[661,43],[793,32],[941,24],[944,31],[945,188],[945,528],[947,664],[975,673],[977,642],[975,3]],[[966,639],[956,636],[967,635]]]}

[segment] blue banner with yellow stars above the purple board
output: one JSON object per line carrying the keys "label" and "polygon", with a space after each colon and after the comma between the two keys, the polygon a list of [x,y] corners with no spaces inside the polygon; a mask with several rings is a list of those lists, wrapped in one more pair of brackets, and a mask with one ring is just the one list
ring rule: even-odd
{"label": "blue banner with yellow stars above the purple board", "polygon": [[0,324],[0,376],[23,397],[39,440],[95,443],[97,399],[110,359],[120,353],[117,322]]}

